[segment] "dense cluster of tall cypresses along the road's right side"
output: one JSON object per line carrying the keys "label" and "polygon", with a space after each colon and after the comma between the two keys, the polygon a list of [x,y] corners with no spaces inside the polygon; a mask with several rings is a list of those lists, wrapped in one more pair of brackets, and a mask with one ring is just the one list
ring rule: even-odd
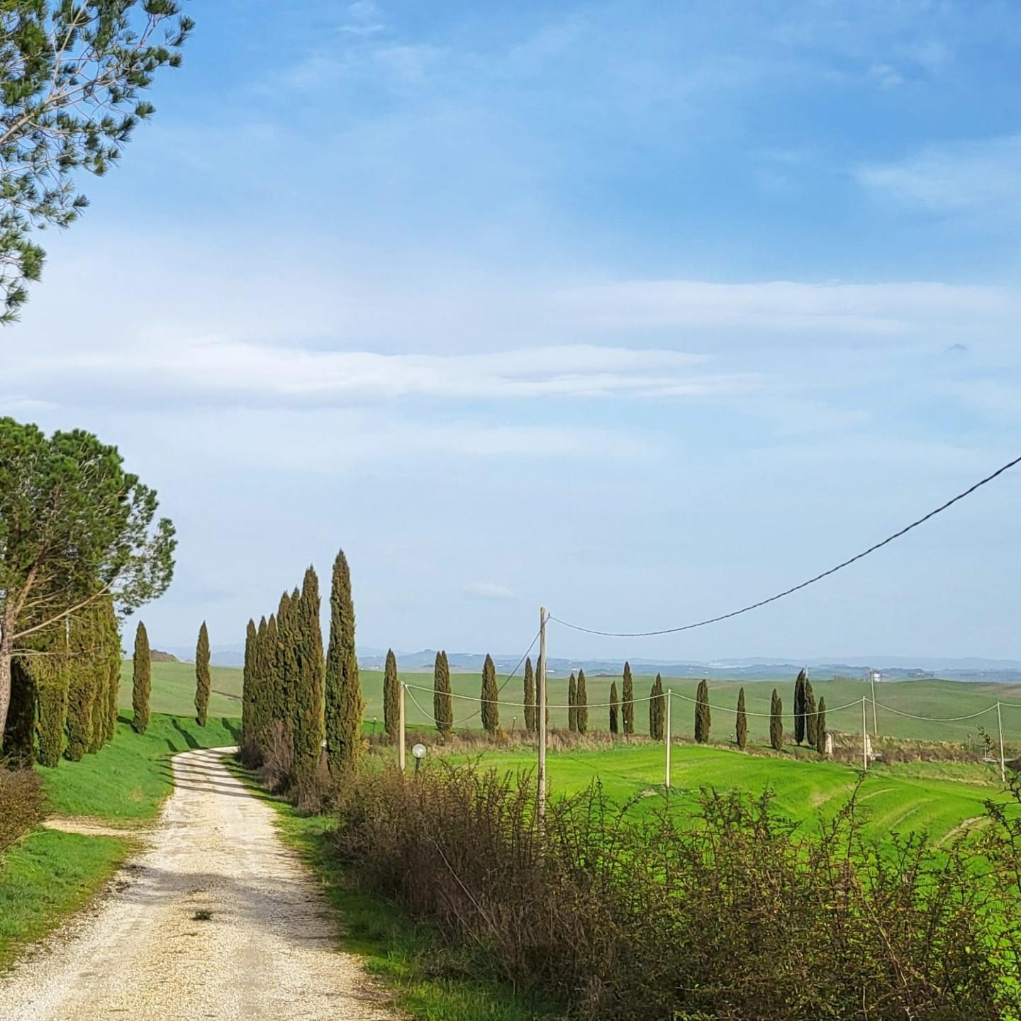
{"label": "dense cluster of tall cypresses along the road's right side", "polygon": [[[275,614],[249,620],[245,638],[241,712],[246,758],[262,759],[280,742],[292,780],[309,781],[323,745],[331,776],[338,777],[361,755],[364,700],[354,646],[354,601],[343,550],[333,564],[330,638],[324,653],[320,587],[309,567],[301,588],[284,592]],[[392,652],[388,657],[388,672]],[[396,680],[396,662],[392,664]]]}

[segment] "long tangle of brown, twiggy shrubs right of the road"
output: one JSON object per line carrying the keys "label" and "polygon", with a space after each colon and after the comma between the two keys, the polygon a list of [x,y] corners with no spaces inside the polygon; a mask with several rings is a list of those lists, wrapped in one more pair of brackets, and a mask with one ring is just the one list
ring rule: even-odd
{"label": "long tangle of brown, twiggy shrubs right of the road", "polygon": [[[963,842],[879,852],[854,803],[808,838],[768,794],[711,790],[685,829],[596,785],[540,827],[526,779],[362,769],[331,839],[366,887],[584,1018],[993,1021],[1013,1002],[1021,872],[988,847],[981,869]],[[1009,859],[1006,824],[986,831]]]}

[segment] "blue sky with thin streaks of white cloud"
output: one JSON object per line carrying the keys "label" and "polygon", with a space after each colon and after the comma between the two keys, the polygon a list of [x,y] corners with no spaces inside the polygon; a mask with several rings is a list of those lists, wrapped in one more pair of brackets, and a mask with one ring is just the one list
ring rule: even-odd
{"label": "blue sky with thin streaks of white cloud", "polygon": [[[351,561],[367,646],[644,630],[1018,453],[1009,3],[220,0],[0,337],[179,526],[155,644]],[[551,654],[1021,658],[1021,475]]]}

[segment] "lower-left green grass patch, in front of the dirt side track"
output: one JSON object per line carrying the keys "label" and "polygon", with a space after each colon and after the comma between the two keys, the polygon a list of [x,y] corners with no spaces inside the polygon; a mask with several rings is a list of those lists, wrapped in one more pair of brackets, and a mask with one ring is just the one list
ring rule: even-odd
{"label": "lower-left green grass patch, in front of the dirt side track", "polygon": [[45,829],[9,847],[0,858],[0,969],[87,905],[130,848],[127,840]]}

